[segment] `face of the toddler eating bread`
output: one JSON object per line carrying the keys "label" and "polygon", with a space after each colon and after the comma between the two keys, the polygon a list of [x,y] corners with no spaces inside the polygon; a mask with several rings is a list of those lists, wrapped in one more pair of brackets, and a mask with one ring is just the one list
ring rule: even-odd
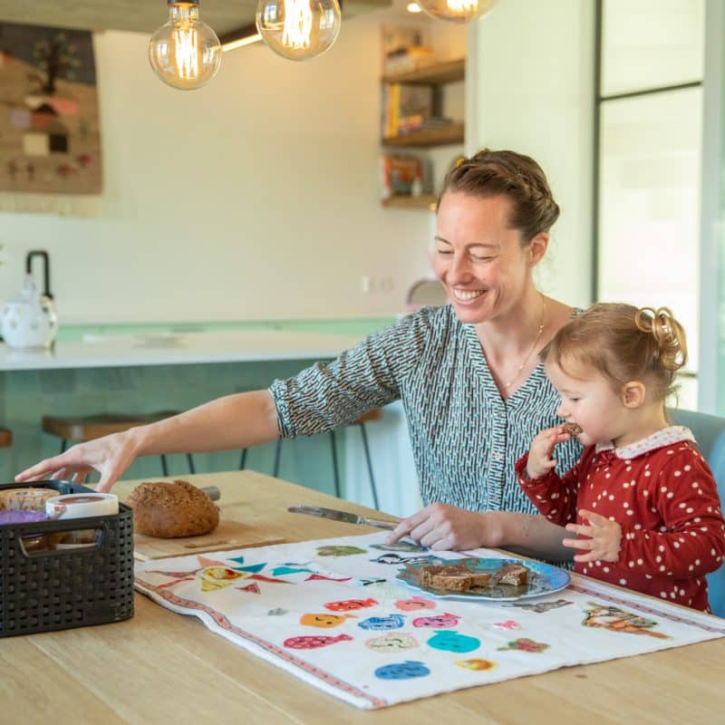
{"label": "face of the toddler eating bread", "polygon": [[550,361],[546,362],[546,375],[561,399],[556,414],[567,423],[579,424],[582,432],[577,438],[585,446],[608,443],[622,435],[627,409],[603,375],[584,368],[565,372]]}

